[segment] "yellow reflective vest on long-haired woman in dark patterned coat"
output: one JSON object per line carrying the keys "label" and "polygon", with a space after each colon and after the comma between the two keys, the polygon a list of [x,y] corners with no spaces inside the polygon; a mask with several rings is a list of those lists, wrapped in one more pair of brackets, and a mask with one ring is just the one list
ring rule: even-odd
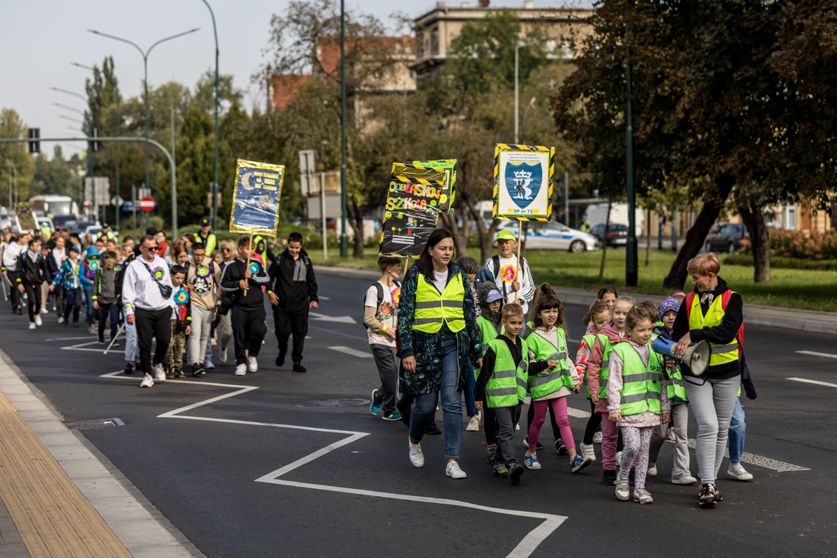
{"label": "yellow reflective vest on long-haired woman in dark patterned coat", "polygon": [[462,274],[455,274],[439,293],[430,279],[419,274],[419,288],[416,289],[415,315],[413,330],[424,333],[436,333],[442,329],[442,322],[456,333],[465,329],[465,313],[462,303],[465,300],[465,285]]}

